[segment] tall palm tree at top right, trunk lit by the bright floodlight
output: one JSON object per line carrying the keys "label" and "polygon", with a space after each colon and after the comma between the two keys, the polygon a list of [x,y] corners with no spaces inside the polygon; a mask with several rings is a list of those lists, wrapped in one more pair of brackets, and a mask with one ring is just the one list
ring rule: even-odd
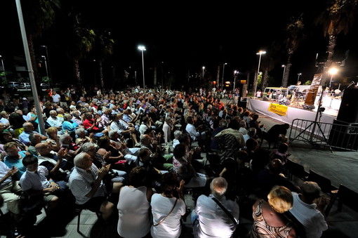
{"label": "tall palm tree at top right, trunk lit by the bright floodlight", "polygon": [[324,67],[324,77],[321,85],[326,84],[328,77],[327,70],[333,64],[334,48],[336,47],[337,36],[340,33],[347,34],[354,22],[354,13],[358,0],[332,0],[329,6],[316,19],[316,25],[322,25],[324,37],[329,37],[327,46],[328,57]]}

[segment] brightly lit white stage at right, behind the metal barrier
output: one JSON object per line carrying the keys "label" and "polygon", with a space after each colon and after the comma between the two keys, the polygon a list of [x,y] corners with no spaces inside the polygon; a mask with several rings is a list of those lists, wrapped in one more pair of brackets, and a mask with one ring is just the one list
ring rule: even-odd
{"label": "brightly lit white stage at right, behind the metal barrier", "polygon": [[[295,101],[291,103],[291,105],[287,105],[287,110],[284,115],[269,111],[270,104],[279,104],[277,101],[264,101],[255,98],[247,98],[247,108],[253,112],[264,114],[267,117],[271,117],[272,119],[277,119],[291,125],[294,119],[314,121],[317,115],[317,100],[319,100],[318,97],[316,98],[316,103],[314,103],[316,107],[314,110],[306,110],[302,106],[304,102]],[[317,121],[332,124],[333,120],[337,117],[340,100],[324,98],[322,101],[323,103],[321,107],[324,107],[325,110],[324,112],[319,113]]]}

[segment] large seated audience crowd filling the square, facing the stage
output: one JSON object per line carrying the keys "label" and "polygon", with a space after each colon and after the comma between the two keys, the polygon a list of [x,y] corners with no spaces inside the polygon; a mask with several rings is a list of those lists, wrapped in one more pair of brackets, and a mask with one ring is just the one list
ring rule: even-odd
{"label": "large seated audience crowd filling the square, facing the stage", "polygon": [[288,124],[266,131],[255,112],[203,90],[72,87],[40,101],[37,112],[22,95],[0,95],[0,205],[22,234],[42,208],[56,216],[74,206],[103,225],[117,219],[121,237],[180,237],[187,191],[194,237],[238,237],[240,216],[253,220],[251,237],[321,237],[328,228],[317,183],[284,176]]}

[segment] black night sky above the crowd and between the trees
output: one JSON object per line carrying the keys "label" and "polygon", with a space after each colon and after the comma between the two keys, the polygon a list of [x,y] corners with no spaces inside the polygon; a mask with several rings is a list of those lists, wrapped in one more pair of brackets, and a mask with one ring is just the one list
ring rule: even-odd
{"label": "black night sky above the crowd and between the trees", "polygon": [[[179,79],[187,79],[188,70],[190,74],[200,73],[202,66],[206,67],[208,73],[215,74],[218,65],[227,62],[225,78],[232,77],[234,70],[251,72],[253,75],[258,66],[256,53],[260,49],[266,50],[273,41],[284,42],[284,29],[289,17],[301,13],[307,38],[293,55],[290,81],[296,81],[298,73],[302,73],[303,81],[312,79],[314,72],[317,72],[317,67],[314,67],[316,54],[319,53],[322,60],[325,57],[326,39],[321,27],[313,23],[314,15],[324,8],[326,1],[323,0],[217,1],[213,4],[207,1],[201,4],[194,1],[147,1],[145,4],[106,0],[77,2],[81,3],[81,10],[89,19],[89,24],[105,27],[112,32],[116,46],[112,62],[108,64],[117,65],[119,71],[131,66],[131,69],[141,72],[142,61],[137,47],[143,44],[147,48],[145,66],[158,67],[159,74],[161,62],[164,62],[164,71],[171,71]],[[22,49],[15,1],[1,1],[0,7],[9,10],[0,19],[7,33],[5,43],[0,46],[0,54],[6,52],[6,56],[11,57],[12,53]],[[2,38],[1,41],[4,41]],[[355,42],[357,36],[353,33],[338,37],[336,53],[344,55],[345,51],[350,50],[350,58],[345,66],[350,71],[357,62]],[[55,46],[49,47],[52,47],[53,78],[56,79],[57,75],[64,75],[60,70],[63,60],[56,61],[64,58],[64,55],[56,51]],[[265,56],[262,60],[265,60]],[[270,73],[277,81],[281,80],[281,65],[285,62],[284,56],[277,60],[277,67]],[[146,74],[150,74],[147,71]],[[350,77],[355,74],[352,73]],[[246,76],[242,74],[241,77]]]}

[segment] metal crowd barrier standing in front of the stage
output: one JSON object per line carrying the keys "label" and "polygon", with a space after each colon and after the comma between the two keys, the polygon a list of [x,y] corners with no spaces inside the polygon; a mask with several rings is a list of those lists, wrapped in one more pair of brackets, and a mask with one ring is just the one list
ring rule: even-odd
{"label": "metal crowd barrier standing in front of the stage", "polygon": [[[303,141],[311,145],[358,151],[358,123],[334,120],[333,124],[294,119],[289,141]],[[332,149],[331,149],[332,151]]]}

